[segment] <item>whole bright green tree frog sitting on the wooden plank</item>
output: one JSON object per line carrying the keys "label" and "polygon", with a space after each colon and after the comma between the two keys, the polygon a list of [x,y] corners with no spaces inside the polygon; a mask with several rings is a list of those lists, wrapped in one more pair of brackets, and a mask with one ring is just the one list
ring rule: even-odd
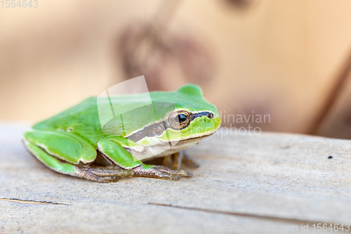
{"label": "whole bright green tree frog sitting on the wooden plank", "polygon": [[[143,106],[149,97],[152,105]],[[34,124],[25,132],[23,142],[34,157],[62,174],[99,182],[126,176],[179,180],[192,176],[179,170],[182,161],[196,166],[182,150],[210,136],[220,126],[216,106],[208,103],[194,84],[172,92],[114,96],[110,102],[123,117],[117,115],[101,126],[97,98],[91,97]],[[172,118],[177,115],[175,112],[182,111],[192,118],[187,116],[188,124],[174,128]],[[173,169],[143,163],[155,157],[165,157],[164,162],[169,162],[171,156]],[[97,161],[104,163],[98,165]]]}

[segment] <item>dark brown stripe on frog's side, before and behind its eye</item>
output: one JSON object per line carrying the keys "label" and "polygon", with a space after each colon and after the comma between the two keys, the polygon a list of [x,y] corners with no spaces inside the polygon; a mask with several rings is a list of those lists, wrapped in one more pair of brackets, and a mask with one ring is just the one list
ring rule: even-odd
{"label": "dark brown stripe on frog's side, before and behind its eye", "polygon": [[[190,114],[190,122],[192,122],[196,118],[207,116],[208,114],[212,114],[212,112],[203,111],[203,112],[192,113]],[[145,126],[145,128],[140,129],[139,131],[135,132],[135,134],[132,134],[127,138],[131,141],[137,142],[145,138],[146,136],[150,136],[150,137],[161,136],[168,127],[169,126],[164,121],[157,122],[157,123],[151,124],[150,126]]]}

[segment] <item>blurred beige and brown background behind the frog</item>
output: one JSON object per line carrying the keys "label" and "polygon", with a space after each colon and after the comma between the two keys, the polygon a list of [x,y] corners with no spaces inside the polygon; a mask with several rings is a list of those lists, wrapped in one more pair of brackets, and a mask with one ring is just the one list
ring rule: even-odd
{"label": "blurred beige and brown background behind the frog", "polygon": [[351,138],[350,24],[348,0],[4,1],[0,119],[34,123],[145,75],[150,90],[198,84],[223,126],[270,115],[249,124]]}

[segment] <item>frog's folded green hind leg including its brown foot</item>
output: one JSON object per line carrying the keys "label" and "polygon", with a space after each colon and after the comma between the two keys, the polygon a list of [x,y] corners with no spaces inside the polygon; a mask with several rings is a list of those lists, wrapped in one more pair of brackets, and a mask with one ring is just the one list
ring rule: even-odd
{"label": "frog's folded green hind leg including its brown foot", "polygon": [[95,160],[97,152],[93,146],[74,134],[32,129],[25,133],[23,142],[29,152],[46,167],[62,174],[98,182],[113,182],[119,176],[133,176],[133,171],[118,166],[89,166]]}

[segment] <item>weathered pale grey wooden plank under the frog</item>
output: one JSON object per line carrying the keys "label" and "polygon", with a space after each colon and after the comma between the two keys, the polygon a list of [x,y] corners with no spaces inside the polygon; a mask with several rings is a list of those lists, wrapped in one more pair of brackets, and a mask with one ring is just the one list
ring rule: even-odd
{"label": "weathered pale grey wooden plank under the frog", "polygon": [[95,183],[29,155],[20,142],[27,126],[0,124],[0,233],[307,233],[314,223],[351,224],[350,141],[223,131],[188,150],[201,164],[190,179]]}

